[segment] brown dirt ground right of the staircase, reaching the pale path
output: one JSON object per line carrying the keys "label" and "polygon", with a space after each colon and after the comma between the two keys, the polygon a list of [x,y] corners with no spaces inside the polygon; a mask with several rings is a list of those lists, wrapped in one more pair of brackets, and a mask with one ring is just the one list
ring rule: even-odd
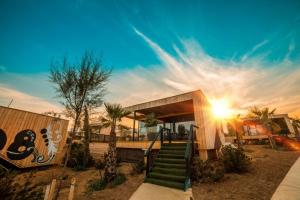
{"label": "brown dirt ground right of the staircase, reaching the pale path", "polygon": [[262,145],[248,145],[245,149],[253,161],[250,172],[226,174],[218,183],[194,184],[194,199],[270,199],[300,155]]}

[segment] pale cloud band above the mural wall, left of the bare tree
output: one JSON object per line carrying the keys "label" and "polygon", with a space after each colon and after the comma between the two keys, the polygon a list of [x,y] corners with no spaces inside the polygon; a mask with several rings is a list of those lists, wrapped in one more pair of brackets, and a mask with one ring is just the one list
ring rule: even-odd
{"label": "pale cloud band above the mural wall, left of the bare tree", "polygon": [[13,102],[10,107],[31,112],[60,112],[62,109],[60,106],[50,103],[47,100],[28,95],[18,90],[9,88],[7,85],[0,84],[0,105],[7,106],[12,99]]}

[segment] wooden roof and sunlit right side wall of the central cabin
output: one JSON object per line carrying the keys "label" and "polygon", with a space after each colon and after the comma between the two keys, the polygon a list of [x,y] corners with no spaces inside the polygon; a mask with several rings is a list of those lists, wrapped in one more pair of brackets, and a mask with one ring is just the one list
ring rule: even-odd
{"label": "wooden roof and sunlit right side wall of the central cabin", "polygon": [[196,129],[196,142],[203,160],[208,158],[208,151],[217,148],[217,140],[225,142],[223,133],[217,134],[211,105],[201,90],[129,106],[126,109],[135,113],[134,116],[129,116],[134,120],[143,120],[145,115],[155,113],[156,118],[167,123],[194,121],[199,127]]}

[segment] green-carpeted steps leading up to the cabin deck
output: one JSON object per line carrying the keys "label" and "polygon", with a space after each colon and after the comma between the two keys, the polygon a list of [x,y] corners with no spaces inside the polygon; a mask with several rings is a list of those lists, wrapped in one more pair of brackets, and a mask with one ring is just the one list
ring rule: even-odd
{"label": "green-carpeted steps leading up to the cabin deck", "polygon": [[187,143],[163,144],[145,182],[182,190],[190,187],[184,157],[186,148]]}

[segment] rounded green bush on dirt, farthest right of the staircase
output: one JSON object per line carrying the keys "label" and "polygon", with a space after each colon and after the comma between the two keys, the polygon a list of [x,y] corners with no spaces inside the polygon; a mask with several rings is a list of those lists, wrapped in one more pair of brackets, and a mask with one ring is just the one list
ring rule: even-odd
{"label": "rounded green bush on dirt, farthest right of the staircase", "polygon": [[245,154],[244,150],[231,146],[221,149],[221,159],[226,172],[247,172],[251,164],[251,158]]}

